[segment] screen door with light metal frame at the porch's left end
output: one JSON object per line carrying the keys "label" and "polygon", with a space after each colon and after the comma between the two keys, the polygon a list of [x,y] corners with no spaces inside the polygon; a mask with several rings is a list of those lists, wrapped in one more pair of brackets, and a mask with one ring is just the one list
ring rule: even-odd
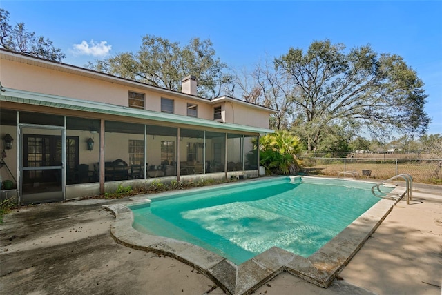
{"label": "screen door with light metal frame at the porch's left end", "polygon": [[21,134],[21,202],[64,201],[66,132],[55,126],[24,125]]}

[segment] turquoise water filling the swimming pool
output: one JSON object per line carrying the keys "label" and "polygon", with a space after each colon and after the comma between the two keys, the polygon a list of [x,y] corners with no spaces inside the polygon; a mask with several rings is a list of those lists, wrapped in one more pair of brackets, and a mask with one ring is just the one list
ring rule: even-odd
{"label": "turquoise water filling the swimming pool", "polygon": [[187,241],[240,264],[270,247],[308,257],[378,198],[372,184],[288,177],[153,199],[132,207],[140,232]]}

